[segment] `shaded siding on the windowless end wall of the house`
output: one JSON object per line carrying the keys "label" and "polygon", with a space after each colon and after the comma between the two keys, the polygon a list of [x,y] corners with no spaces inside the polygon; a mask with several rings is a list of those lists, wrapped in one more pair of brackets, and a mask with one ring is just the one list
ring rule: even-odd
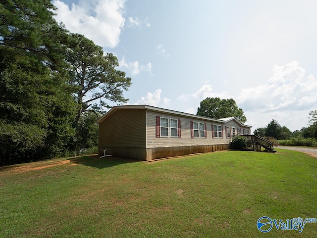
{"label": "shaded siding on the windowless end wall of the house", "polygon": [[99,127],[100,148],[145,148],[145,110],[118,110],[100,123]]}

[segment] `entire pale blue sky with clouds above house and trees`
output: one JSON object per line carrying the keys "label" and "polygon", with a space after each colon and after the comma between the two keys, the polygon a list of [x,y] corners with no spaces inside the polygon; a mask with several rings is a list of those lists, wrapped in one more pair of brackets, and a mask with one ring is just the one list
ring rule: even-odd
{"label": "entire pale blue sky with clouds above house and trees", "polygon": [[54,0],[56,20],[118,57],[129,104],[196,114],[233,98],[253,130],[317,110],[315,0]]}

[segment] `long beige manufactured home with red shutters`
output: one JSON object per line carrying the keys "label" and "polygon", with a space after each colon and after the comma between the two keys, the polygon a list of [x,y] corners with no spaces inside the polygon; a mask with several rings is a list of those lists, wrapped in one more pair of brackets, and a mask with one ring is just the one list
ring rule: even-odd
{"label": "long beige manufactured home with red shutters", "polygon": [[229,148],[251,134],[236,118],[212,119],[148,105],[112,107],[99,123],[99,154],[153,160]]}

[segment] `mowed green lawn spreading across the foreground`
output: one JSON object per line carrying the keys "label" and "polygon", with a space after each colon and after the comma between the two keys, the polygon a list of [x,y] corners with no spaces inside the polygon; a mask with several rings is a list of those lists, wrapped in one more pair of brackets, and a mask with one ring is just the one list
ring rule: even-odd
{"label": "mowed green lawn spreading across the foreground", "polygon": [[0,237],[317,237],[317,223],[257,229],[262,216],[317,218],[317,158],[277,151],[0,168]]}

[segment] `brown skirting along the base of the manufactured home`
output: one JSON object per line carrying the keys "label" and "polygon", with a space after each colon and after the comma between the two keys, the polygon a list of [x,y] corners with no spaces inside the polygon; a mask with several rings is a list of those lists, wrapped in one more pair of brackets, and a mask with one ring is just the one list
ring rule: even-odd
{"label": "brown skirting along the base of the manufactured home", "polygon": [[206,153],[218,150],[227,150],[230,144],[211,144],[211,145],[191,145],[191,146],[175,146],[175,147],[155,147],[155,148],[99,148],[99,155],[111,154],[116,157],[153,160],[159,158],[175,157],[195,153]]}

